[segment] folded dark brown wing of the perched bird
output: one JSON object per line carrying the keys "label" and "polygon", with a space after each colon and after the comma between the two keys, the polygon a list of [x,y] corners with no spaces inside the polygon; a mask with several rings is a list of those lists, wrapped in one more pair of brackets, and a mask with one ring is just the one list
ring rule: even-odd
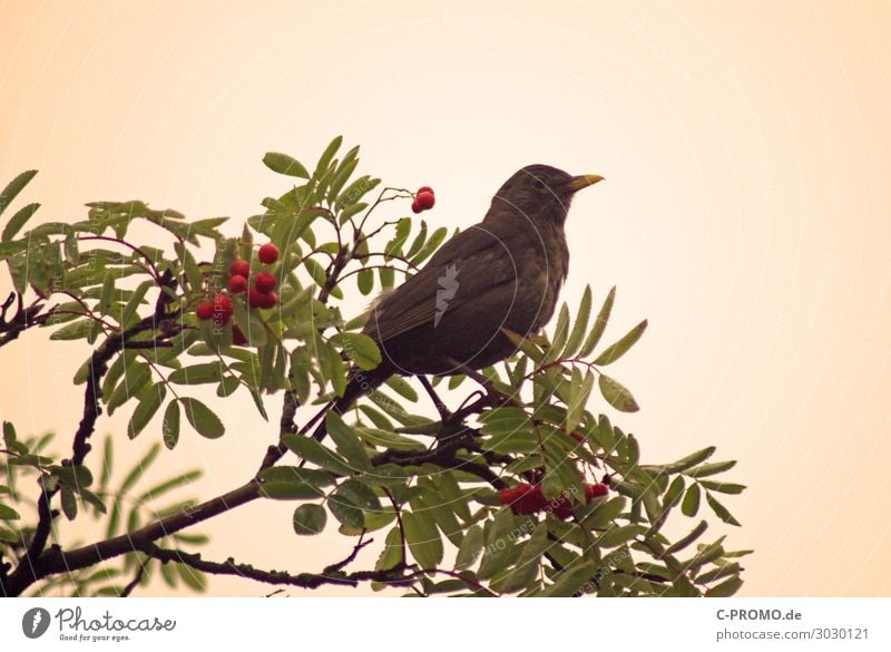
{"label": "folded dark brown wing of the perched bird", "polygon": [[[516,231],[489,224],[471,226],[447,242],[414,276],[372,309],[365,332],[386,341],[457,310],[492,288],[516,283]],[[510,242],[513,246],[508,247]]]}

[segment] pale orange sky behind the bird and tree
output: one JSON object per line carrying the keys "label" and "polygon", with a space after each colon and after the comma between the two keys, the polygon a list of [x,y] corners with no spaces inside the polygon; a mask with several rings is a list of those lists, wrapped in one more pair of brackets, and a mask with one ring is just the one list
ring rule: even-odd
{"label": "pale orange sky behind the bird and tree", "polygon": [[[743,594],[891,595],[890,75],[888,2],[7,1],[0,183],[40,169],[20,201],[43,220],[138,197],[241,222],[286,186],[264,152],[312,160],[343,134],[364,172],[434,186],[430,218],[467,226],[521,165],[601,174],[569,216],[564,298],[618,285],[614,338],[649,320],[615,369],[644,461],[740,460]],[[70,434],[84,357],[42,335],[0,349],[0,418]],[[203,495],[274,437],[249,398],[219,410],[224,439],[163,454],[168,474],[207,468]],[[334,561],[334,528],[295,539],[292,510],[221,518],[206,556]]]}

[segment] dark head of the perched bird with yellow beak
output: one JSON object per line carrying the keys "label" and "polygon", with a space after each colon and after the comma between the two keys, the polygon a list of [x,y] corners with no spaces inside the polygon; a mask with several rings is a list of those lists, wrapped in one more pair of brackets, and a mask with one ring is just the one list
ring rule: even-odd
{"label": "dark head of the perched bird with yellow beak", "polygon": [[572,176],[550,165],[537,163],[517,171],[498,189],[492,208],[511,206],[532,222],[551,222],[562,225],[572,196],[604,177],[596,174]]}

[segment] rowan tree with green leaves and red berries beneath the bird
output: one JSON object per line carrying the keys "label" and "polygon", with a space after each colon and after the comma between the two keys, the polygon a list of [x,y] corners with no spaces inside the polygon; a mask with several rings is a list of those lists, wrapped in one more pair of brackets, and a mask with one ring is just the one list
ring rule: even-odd
{"label": "rowan tree with green leaves and red berries beneath the bird", "polygon": [[[738,557],[751,551],[730,552],[724,537],[705,543],[705,519],[675,541],[663,534],[678,505],[697,516],[703,496],[721,520],[738,525],[718,496],[744,487],[716,479],[735,463],[708,461],[708,447],[672,464],[640,464],[638,440],[590,411],[601,400],[619,412],[638,409],[605,372],[647,325],[601,347],[615,289],[594,319],[586,289],[575,318],[564,304],[549,338],[517,339],[521,353],[481,378],[432,379],[438,418],[419,413],[425,401],[400,377],[346,415],[330,409],[351,366],[368,370],[381,360],[361,333],[365,315],[342,314],[345,294],[392,288],[448,235],[420,217],[381,217],[403,212],[414,193],[388,187],[363,201],[380,179],[355,177],[359,148],[337,159],[340,149],[339,137],[312,173],[267,154],[264,163],[297,185],[264,200],[265,211],[234,237],[221,231],[225,217],[189,222],[143,202],[91,203],[84,221],[21,235],[38,204],[6,221],[0,260],[12,291],[0,313],[0,347],[46,328],[50,340],[84,341],[90,352],[74,374],[85,405],[70,442],[20,437],[3,422],[2,593],[127,595],[155,573],[195,590],[206,573],[237,573],[421,595],[736,592]],[[35,174],[7,186],[0,213]],[[159,235],[135,240],[137,222]],[[161,236],[167,249],[149,244]],[[255,240],[266,244],[261,257]],[[198,262],[209,247],[210,260]],[[234,279],[245,275],[248,283]],[[225,435],[213,405],[190,396],[202,385],[215,386],[217,397],[249,395],[278,442],[257,451],[255,475],[227,494],[158,506],[200,475],[139,488],[161,445],[175,454],[180,437]],[[458,408],[439,398],[444,388]],[[271,413],[278,397],[281,410]],[[101,415],[117,410],[130,415],[127,431],[95,446]],[[307,436],[319,419],[330,434],[324,442]],[[114,451],[137,437],[154,441],[111,486]],[[334,527],[333,517],[355,539],[353,553],[287,574],[195,552],[207,541],[196,526],[260,499],[294,502],[300,536]],[[58,533],[75,518],[101,522],[105,538],[63,548]],[[385,541],[375,567],[352,570],[372,537]]]}

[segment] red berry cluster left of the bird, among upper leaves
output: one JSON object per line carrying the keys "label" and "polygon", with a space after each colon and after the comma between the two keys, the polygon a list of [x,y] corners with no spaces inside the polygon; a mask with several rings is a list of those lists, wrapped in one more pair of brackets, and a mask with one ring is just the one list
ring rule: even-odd
{"label": "red berry cluster left of the bird, among upper leaves", "polygon": [[[264,265],[271,265],[278,260],[278,247],[267,242],[257,251],[257,257]],[[275,293],[275,276],[270,272],[258,272],[254,275],[254,286],[251,288],[251,263],[244,259],[236,259],[229,265],[229,279],[226,283],[231,294],[242,294],[247,292],[247,304],[251,308],[273,308],[278,303],[278,295]],[[229,294],[218,292],[210,301],[202,301],[195,308],[195,315],[206,321],[214,320],[214,325],[222,327],[232,319],[232,299]],[[232,325],[232,341],[236,346],[247,343],[242,330]]]}

